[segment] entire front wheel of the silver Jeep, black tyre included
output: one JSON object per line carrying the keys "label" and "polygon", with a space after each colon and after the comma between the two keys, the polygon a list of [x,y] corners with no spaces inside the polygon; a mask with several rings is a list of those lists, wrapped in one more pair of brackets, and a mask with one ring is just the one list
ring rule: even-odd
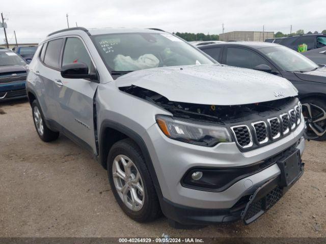
{"label": "entire front wheel of the silver Jeep, black tyre included", "polygon": [[112,192],[127,216],[149,222],[161,215],[155,188],[144,157],[131,139],[116,142],[107,157]]}

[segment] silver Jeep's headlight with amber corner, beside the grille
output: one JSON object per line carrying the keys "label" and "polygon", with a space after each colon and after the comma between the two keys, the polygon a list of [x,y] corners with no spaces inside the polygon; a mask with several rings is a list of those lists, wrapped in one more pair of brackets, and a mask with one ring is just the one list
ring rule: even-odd
{"label": "silver Jeep's headlight with amber corner, beside the grille", "polygon": [[194,124],[189,120],[174,119],[166,115],[156,115],[156,122],[161,131],[174,140],[201,146],[232,142],[230,133],[222,126]]}

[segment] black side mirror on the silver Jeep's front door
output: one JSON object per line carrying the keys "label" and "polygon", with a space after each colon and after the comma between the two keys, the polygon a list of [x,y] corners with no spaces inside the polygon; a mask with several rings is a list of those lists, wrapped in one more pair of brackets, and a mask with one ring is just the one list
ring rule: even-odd
{"label": "black side mirror on the silver Jeep's front door", "polygon": [[71,63],[61,68],[61,76],[68,79],[91,79],[96,80],[95,73],[88,73],[88,66],[84,63]]}

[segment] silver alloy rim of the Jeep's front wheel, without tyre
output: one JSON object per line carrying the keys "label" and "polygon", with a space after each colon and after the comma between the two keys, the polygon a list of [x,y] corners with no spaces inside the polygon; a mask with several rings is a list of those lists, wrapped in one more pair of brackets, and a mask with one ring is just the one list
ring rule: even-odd
{"label": "silver alloy rim of the Jeep's front wheel, without tyre", "polygon": [[145,193],[139,170],[125,155],[118,155],[112,165],[115,188],[123,203],[133,211],[144,206]]}

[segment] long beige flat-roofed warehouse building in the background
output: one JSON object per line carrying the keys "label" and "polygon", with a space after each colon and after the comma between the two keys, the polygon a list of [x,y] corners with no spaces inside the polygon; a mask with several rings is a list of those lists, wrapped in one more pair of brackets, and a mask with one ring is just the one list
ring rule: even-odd
{"label": "long beige flat-roofed warehouse building in the background", "polygon": [[255,41],[263,42],[274,38],[274,32],[228,32],[220,34],[220,41]]}

